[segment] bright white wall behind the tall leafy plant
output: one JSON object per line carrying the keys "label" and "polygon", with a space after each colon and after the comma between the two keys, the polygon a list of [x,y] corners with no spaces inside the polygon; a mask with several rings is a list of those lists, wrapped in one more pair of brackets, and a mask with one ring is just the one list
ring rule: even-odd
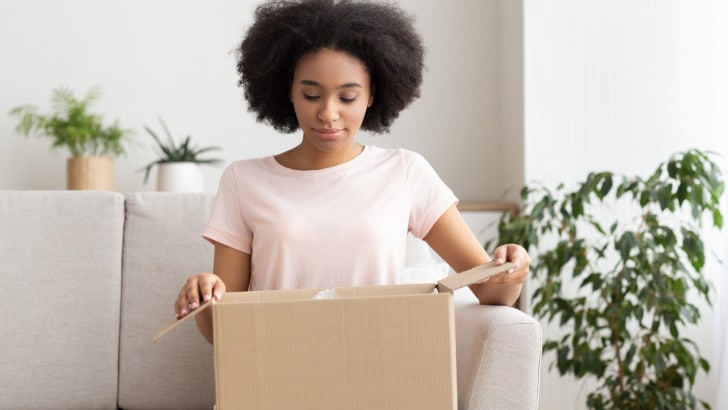
{"label": "bright white wall behind the tall leafy plant", "polygon": [[[525,1],[526,181],[568,184],[597,170],[646,175],[690,147],[727,155],[728,37],[720,27],[728,15],[718,4]],[[725,157],[718,161],[728,169]],[[703,315],[691,336],[713,359],[718,318]],[[586,391],[568,381],[545,372],[541,408],[583,408]],[[714,403],[715,372],[695,392]]]}

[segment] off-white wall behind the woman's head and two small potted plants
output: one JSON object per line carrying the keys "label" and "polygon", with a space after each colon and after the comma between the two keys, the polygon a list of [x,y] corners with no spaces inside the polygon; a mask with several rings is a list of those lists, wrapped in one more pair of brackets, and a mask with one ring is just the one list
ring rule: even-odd
{"label": "off-white wall behind the woman's head and two small potted plants", "polygon": [[[504,90],[498,76],[508,60],[499,58],[501,2],[401,0],[416,15],[427,45],[422,98],[402,113],[391,134],[360,138],[421,152],[463,199],[498,199],[522,181],[520,171],[503,177],[499,100]],[[65,188],[67,153],[49,151],[49,140],[19,136],[16,120],[6,115],[27,103],[47,110],[58,86],[80,94],[100,85],[99,112],[138,132],[136,145],[115,165],[116,189],[123,193],[155,189],[153,182],[142,185],[137,170],[155,159],[142,127],[158,128],[157,116],[179,136],[224,147],[225,163],[295,145],[298,134],[281,135],[255,122],[236,85],[232,51],[257,3],[0,2],[0,189]],[[520,24],[520,13],[506,18]],[[513,30],[520,32],[518,26]],[[520,151],[509,155],[508,163],[522,158]],[[207,191],[215,191],[221,172],[221,167],[205,168]]]}

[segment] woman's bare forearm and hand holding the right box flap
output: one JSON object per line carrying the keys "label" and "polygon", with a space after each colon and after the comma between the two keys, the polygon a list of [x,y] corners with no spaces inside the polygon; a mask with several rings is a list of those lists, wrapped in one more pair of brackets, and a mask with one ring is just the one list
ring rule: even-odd
{"label": "woman's bare forearm and hand holding the right box flap", "polygon": [[[455,272],[491,260],[455,205],[440,216],[424,239]],[[481,304],[512,306],[521,294],[530,258],[523,247],[513,244],[499,246],[493,258],[496,264],[513,262],[518,268],[471,285],[470,289]]]}

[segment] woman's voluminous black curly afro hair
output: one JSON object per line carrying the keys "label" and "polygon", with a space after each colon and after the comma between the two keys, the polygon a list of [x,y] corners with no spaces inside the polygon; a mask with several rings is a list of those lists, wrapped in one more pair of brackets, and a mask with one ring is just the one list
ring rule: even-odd
{"label": "woman's voluminous black curly afro hair", "polygon": [[420,96],[424,47],[413,18],[389,3],[372,1],[268,1],[238,48],[238,85],[258,121],[291,133],[299,128],[290,102],[298,60],[330,48],[357,57],[369,70],[374,102],[361,128],[388,132]]}

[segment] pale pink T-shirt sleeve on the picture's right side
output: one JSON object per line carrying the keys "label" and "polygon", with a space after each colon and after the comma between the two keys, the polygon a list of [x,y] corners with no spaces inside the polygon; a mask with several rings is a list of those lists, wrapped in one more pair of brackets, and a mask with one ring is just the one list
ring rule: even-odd
{"label": "pale pink T-shirt sleeve on the picture's right side", "polygon": [[422,155],[406,150],[403,153],[412,199],[409,229],[422,239],[458,199]]}

